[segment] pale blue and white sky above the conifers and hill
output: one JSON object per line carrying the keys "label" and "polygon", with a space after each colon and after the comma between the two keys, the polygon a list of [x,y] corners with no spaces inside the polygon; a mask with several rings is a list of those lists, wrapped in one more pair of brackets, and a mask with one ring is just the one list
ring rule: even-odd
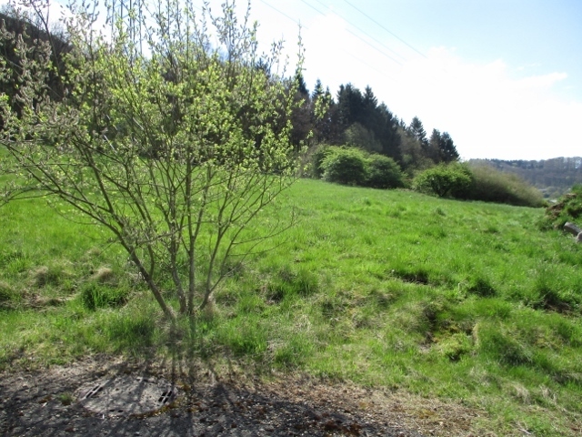
{"label": "pale blue and white sky above the conifers and hill", "polygon": [[582,156],[582,0],[252,0],[251,19],[292,60],[300,33],[310,90],[370,86],[463,159]]}

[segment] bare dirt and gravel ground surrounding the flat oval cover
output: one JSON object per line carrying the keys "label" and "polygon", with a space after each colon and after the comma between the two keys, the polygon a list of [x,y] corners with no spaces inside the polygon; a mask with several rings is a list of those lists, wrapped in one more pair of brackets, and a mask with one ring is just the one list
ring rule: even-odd
{"label": "bare dirt and gravel ground surrounding the flat oval cover", "polygon": [[[153,414],[89,412],[92,381],[131,375],[173,381],[176,401]],[[0,375],[0,434],[139,436],[467,436],[477,412],[406,393],[301,376],[258,381],[236,371],[92,357],[66,367]]]}

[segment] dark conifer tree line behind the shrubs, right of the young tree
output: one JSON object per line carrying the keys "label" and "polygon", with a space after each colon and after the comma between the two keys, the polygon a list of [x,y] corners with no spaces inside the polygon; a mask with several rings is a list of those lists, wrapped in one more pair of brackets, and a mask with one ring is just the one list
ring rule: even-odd
{"label": "dark conifer tree line behind the shrubs, right of the young tree", "polygon": [[[319,79],[311,93],[303,76],[297,75],[297,80],[300,84],[297,98],[303,101],[292,114],[293,138],[297,143],[305,141],[312,132],[311,144],[358,147],[394,159],[409,175],[459,158],[457,146],[447,132],[435,128],[427,137],[418,117],[406,125],[384,102],[378,102],[370,86],[360,91],[352,84],[341,85],[334,97]],[[320,100],[326,102],[326,113],[317,118],[314,107]]]}

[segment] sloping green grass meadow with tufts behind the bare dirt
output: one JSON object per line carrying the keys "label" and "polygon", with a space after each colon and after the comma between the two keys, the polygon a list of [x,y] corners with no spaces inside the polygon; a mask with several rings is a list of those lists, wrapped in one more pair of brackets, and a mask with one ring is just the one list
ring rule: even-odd
{"label": "sloping green grass meadow with tufts behind the bare dirt", "polygon": [[579,435],[582,248],[539,231],[543,210],[300,180],[249,232],[292,208],[177,330],[99,229],[38,200],[0,209],[0,368],[177,353],[462,402],[498,435]]}

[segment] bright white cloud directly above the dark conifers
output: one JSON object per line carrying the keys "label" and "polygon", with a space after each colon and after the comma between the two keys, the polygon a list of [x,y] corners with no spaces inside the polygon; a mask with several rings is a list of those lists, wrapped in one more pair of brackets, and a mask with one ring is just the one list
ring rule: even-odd
{"label": "bright white cloud directly above the dark conifers", "polygon": [[387,43],[406,59],[400,66],[348,28],[337,15],[320,16],[309,25],[304,33],[307,86],[317,77],[332,93],[347,82],[360,89],[369,85],[406,123],[417,116],[428,134],[433,127],[450,133],[463,158],[582,155],[577,132],[582,102],[565,101],[553,88],[567,80],[567,73],[527,76],[528,68],[510,66],[510,60],[468,62],[447,47],[432,48],[424,57],[396,41]]}

